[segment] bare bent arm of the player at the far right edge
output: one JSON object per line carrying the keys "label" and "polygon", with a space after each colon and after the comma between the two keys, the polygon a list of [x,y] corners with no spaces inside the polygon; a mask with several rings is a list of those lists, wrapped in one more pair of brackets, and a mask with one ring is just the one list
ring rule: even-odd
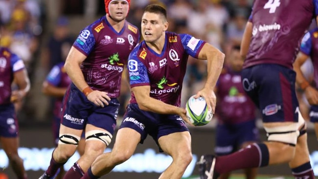
{"label": "bare bent arm of the player at the far right edge", "polygon": [[294,62],[294,70],[296,72],[296,83],[301,90],[304,90],[306,98],[311,105],[318,105],[318,90],[310,85],[310,83],[305,78],[300,67],[309,58],[305,53],[299,52],[297,58]]}

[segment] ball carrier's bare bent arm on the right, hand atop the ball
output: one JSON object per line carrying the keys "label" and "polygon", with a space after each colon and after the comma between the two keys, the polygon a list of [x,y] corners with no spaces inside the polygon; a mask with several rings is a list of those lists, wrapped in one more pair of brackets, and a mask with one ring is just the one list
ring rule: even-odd
{"label": "ball carrier's bare bent arm on the right, hand atop the ball", "polygon": [[216,96],[214,88],[221,74],[225,55],[214,46],[205,43],[199,52],[198,59],[207,60],[207,78],[204,88],[200,90],[196,97],[203,96],[209,111],[215,112]]}

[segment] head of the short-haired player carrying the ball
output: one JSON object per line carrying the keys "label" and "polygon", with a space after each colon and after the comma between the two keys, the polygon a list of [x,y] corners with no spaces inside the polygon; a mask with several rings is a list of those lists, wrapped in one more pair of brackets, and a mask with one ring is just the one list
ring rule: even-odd
{"label": "head of the short-haired player carrying the ball", "polygon": [[165,18],[156,13],[145,12],[141,19],[141,33],[143,39],[148,42],[156,42],[164,36],[168,28],[168,22]]}

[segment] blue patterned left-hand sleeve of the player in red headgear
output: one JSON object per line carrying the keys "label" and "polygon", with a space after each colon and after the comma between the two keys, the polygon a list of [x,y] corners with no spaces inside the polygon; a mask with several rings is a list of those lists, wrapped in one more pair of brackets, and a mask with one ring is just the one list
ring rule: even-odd
{"label": "blue patterned left-hand sleeve of the player in red headgear", "polygon": [[81,31],[73,46],[84,53],[86,56],[91,53],[95,46],[95,37],[92,32],[91,25],[87,26]]}

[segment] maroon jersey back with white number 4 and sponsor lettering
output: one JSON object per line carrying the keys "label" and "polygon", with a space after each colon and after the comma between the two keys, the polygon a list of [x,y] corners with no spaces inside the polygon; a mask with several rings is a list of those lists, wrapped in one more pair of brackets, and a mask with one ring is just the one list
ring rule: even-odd
{"label": "maroon jersey back with white number 4 and sponsor lettering", "polygon": [[254,1],[249,20],[252,37],[243,68],[258,64],[293,68],[300,39],[314,14],[313,0]]}

